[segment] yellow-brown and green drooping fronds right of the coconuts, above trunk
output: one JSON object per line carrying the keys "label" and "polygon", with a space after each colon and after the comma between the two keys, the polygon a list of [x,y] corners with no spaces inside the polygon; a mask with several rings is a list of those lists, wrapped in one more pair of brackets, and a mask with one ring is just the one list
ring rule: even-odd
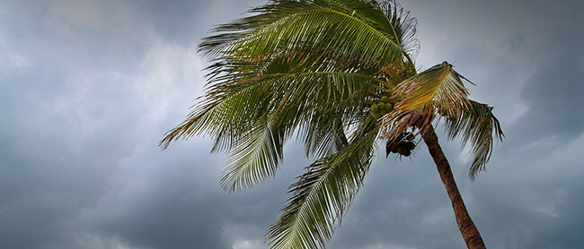
{"label": "yellow-brown and green drooping fronds right of the coconuts, above trunk", "polygon": [[468,81],[444,62],[399,84],[394,92],[402,101],[385,117],[384,138],[392,139],[411,126],[423,130],[437,115],[446,117],[448,138],[460,137],[463,147],[471,143],[469,177],[474,179],[489,161],[493,141],[501,140],[503,133],[491,107],[468,99],[462,79]]}

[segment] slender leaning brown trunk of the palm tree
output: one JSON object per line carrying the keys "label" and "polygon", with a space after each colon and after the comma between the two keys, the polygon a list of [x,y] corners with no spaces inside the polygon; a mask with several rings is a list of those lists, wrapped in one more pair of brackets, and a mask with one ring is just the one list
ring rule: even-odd
{"label": "slender leaning brown trunk of the palm tree", "polygon": [[452,208],[455,210],[456,223],[458,224],[460,233],[465,238],[466,246],[472,249],[486,248],[484,242],[482,242],[479,230],[474,227],[473,219],[471,219],[468,211],[466,211],[465,202],[463,202],[463,197],[458,192],[458,187],[456,186],[455,176],[452,175],[447,157],[438,144],[438,136],[434,132],[432,125],[428,125],[421,132],[421,137],[426,145],[428,145],[429,153],[438,167],[440,179],[442,179],[442,183],[447,188],[450,202],[452,202]]}

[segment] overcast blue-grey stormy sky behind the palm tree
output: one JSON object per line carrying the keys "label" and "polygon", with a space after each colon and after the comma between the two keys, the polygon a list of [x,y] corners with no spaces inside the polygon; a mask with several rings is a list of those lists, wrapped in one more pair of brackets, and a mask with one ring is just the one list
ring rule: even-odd
{"label": "overcast blue-grey stormy sky behind the palm tree", "polygon": [[[157,147],[203,90],[200,39],[264,3],[0,1],[0,248],[267,248],[310,163],[299,146],[243,193],[221,190],[208,138]],[[471,182],[467,152],[440,133],[486,245],[583,245],[584,4],[401,3],[419,21],[417,64],[455,64],[507,135]],[[463,246],[425,147],[375,159],[329,245]]]}

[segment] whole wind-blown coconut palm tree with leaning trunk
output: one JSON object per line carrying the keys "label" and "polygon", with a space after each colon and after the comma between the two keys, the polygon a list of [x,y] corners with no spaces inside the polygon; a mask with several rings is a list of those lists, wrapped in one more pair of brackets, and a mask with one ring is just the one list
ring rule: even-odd
{"label": "whole wind-blown coconut palm tree with leaning trunk", "polygon": [[358,193],[377,144],[405,157],[423,141],[466,245],[484,248],[434,125],[469,143],[471,178],[503,133],[491,107],[468,99],[468,80],[451,64],[418,72],[416,24],[392,0],[272,0],[253,8],[203,39],[206,94],[160,145],[211,136],[211,151],[228,153],[221,185],[231,192],[274,176],[284,144],[304,142],[314,163],[290,185],[266,240],[272,248],[319,248]]}

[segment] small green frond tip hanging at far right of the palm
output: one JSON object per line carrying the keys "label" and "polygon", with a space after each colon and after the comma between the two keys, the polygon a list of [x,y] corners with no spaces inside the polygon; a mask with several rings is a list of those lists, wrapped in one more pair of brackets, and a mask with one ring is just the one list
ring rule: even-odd
{"label": "small green frond tip hanging at far right of the palm", "polygon": [[473,100],[470,103],[461,109],[456,119],[447,118],[445,128],[450,140],[459,137],[463,147],[470,142],[473,163],[468,176],[474,179],[491,158],[493,142],[502,141],[505,135],[500,129],[499,120],[492,114],[492,107]]}

